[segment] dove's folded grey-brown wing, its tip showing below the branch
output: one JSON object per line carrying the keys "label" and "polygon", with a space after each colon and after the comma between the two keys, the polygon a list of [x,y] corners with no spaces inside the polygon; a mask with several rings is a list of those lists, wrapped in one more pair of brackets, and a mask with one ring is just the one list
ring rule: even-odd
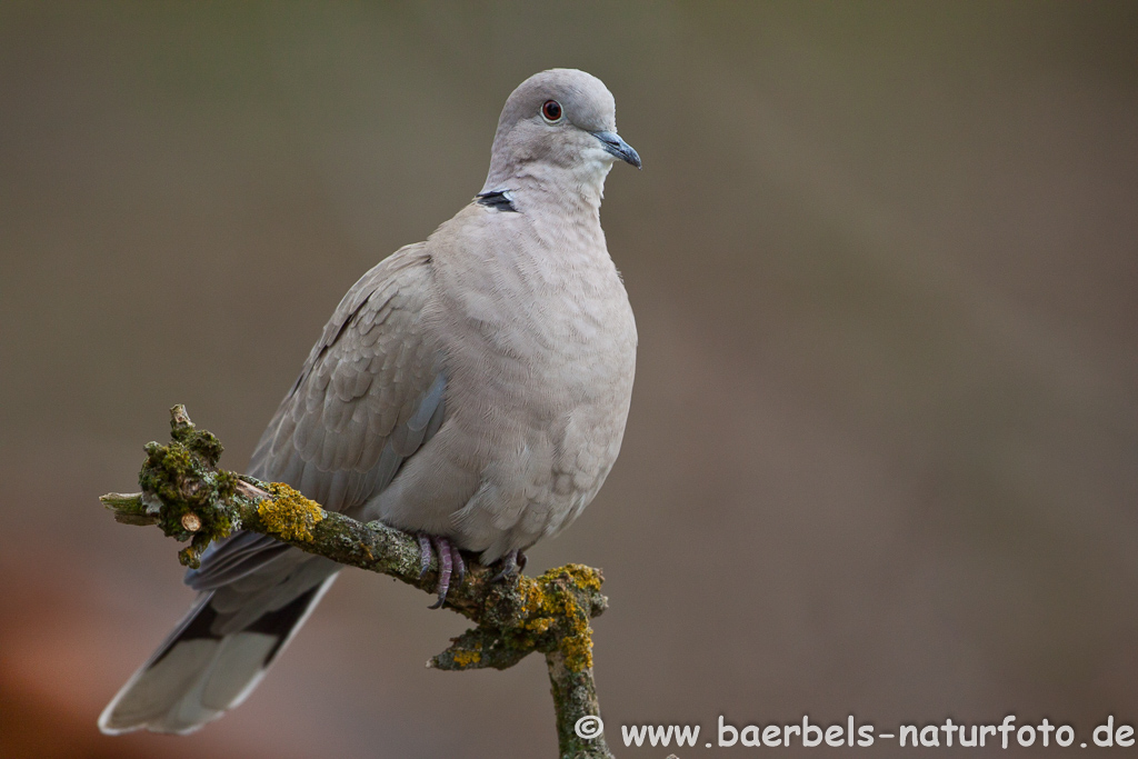
{"label": "dove's folded grey-brown wing, its tip showing below the branch", "polygon": [[[262,435],[249,475],[288,482],[330,511],[349,511],[390,484],[445,414],[446,378],[422,323],[430,279],[420,244],[348,290]],[[187,583],[216,588],[286,550],[237,533],[208,551]]]}

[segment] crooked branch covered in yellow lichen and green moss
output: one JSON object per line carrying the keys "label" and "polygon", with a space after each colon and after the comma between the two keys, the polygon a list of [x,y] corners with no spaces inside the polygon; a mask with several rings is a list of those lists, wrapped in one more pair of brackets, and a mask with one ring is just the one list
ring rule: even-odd
{"label": "crooked branch covered in yellow lichen and green moss", "polygon": [[[197,567],[213,541],[245,529],[341,564],[389,575],[428,593],[437,585],[437,559],[420,576],[414,537],[380,522],[365,525],[324,511],[288,485],[217,469],[221,443],[197,429],[183,406],[171,410],[171,430],[168,445],[146,446],[147,460],[139,475],[142,492],[110,493],[101,501],[121,522],[158,525],[166,535],[188,541],[179,552],[183,564]],[[611,757],[603,735],[586,740],[575,731],[583,717],[600,715],[589,626],[608,605],[600,570],[567,564],[537,578],[519,575],[516,580],[495,583],[495,570],[469,563],[465,580],[451,588],[445,607],[476,626],[427,666],[505,669],[541,652],[549,665],[562,759]]]}

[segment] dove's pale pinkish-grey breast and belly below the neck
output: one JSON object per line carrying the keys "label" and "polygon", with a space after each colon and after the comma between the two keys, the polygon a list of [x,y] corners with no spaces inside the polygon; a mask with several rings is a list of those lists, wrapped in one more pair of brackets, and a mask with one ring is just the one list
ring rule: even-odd
{"label": "dove's pale pinkish-grey breast and belly below the neck", "polygon": [[447,378],[430,476],[454,472],[472,494],[404,511],[436,514],[488,559],[560,530],[593,498],[635,372],[636,327],[600,226],[538,230],[525,215],[473,208],[453,244],[447,228],[429,242],[439,254],[424,323]]}

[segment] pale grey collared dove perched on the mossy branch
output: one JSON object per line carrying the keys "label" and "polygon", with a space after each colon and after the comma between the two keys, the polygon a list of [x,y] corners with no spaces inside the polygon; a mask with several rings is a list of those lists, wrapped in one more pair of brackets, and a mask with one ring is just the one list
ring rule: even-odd
{"label": "pale grey collared dove perched on the mossy branch", "polygon": [[[438,554],[525,567],[569,526],[620,451],[636,323],[601,229],[604,181],[640,155],[601,80],[554,68],[506,99],[481,190],[344,296],[247,473],[379,520]],[[237,531],[185,583],[199,595],[99,728],[190,733],[240,704],[340,566]]]}

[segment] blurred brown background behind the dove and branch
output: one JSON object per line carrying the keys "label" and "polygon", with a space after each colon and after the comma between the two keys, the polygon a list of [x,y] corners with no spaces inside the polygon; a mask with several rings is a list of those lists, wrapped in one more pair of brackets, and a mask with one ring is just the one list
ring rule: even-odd
{"label": "blurred brown background behind the dove and branch", "polygon": [[624,453],[530,564],[604,568],[618,754],[747,752],[720,713],[1135,724],[1136,41],[1132,2],[0,5],[0,756],[554,756],[541,660],[428,671],[462,620],[358,571],[220,723],[94,726],[192,595],[97,496],[174,403],[242,467],[551,66],[644,158],[603,214]]}

